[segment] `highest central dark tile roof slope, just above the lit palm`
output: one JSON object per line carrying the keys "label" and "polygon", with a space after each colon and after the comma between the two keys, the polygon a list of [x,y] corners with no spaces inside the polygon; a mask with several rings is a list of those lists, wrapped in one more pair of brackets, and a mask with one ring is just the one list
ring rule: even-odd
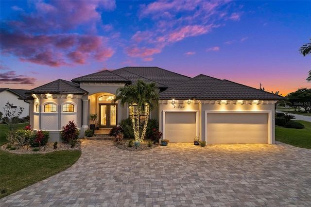
{"label": "highest central dark tile roof slope, just above the lit palm", "polygon": [[[178,86],[191,79],[190,77],[187,77],[185,75],[181,75],[158,67],[125,67],[113,70],[112,72],[117,73],[120,70],[129,71],[141,77],[147,78],[157,84],[161,84],[167,87]],[[132,80],[132,82],[134,82],[134,80]]]}

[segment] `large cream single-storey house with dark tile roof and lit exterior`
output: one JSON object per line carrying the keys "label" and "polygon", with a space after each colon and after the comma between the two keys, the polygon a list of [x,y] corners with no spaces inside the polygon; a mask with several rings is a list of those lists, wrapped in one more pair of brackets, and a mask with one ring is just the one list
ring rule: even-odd
{"label": "large cream single-storey house with dark tile roof and lit exterior", "polygon": [[26,92],[31,102],[34,130],[59,132],[74,120],[82,137],[89,126],[89,114],[99,114],[99,127],[115,127],[128,118],[129,108],[112,103],[119,87],[140,79],[155,82],[159,106],[149,118],[159,121],[163,138],[171,142],[192,142],[200,136],[207,144],[275,143],[275,103],[281,96],[200,74],[190,78],[157,67],[125,67],[103,70],[71,82],[62,79]]}

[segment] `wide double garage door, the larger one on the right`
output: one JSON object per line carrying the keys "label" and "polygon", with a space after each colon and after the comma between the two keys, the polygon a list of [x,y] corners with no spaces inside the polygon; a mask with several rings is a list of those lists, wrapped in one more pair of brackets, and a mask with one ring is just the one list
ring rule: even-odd
{"label": "wide double garage door, the larger one on the right", "polygon": [[267,113],[207,113],[207,143],[267,143]]}

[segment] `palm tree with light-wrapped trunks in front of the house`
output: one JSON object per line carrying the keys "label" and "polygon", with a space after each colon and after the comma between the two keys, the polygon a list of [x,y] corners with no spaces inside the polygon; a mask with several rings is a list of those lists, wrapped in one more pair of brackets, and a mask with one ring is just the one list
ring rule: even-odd
{"label": "palm tree with light-wrapped trunks in front of the house", "polygon": [[[118,100],[121,106],[127,104],[130,107],[135,140],[142,141],[147,130],[149,110],[154,109],[155,105],[159,103],[156,83],[146,84],[144,81],[138,79],[136,85],[120,87],[117,89],[117,96],[113,101],[116,102]],[[134,106],[137,106],[137,110],[134,110]],[[140,135],[139,117],[142,111],[146,112],[145,115],[147,118],[144,121],[143,130]]]}

